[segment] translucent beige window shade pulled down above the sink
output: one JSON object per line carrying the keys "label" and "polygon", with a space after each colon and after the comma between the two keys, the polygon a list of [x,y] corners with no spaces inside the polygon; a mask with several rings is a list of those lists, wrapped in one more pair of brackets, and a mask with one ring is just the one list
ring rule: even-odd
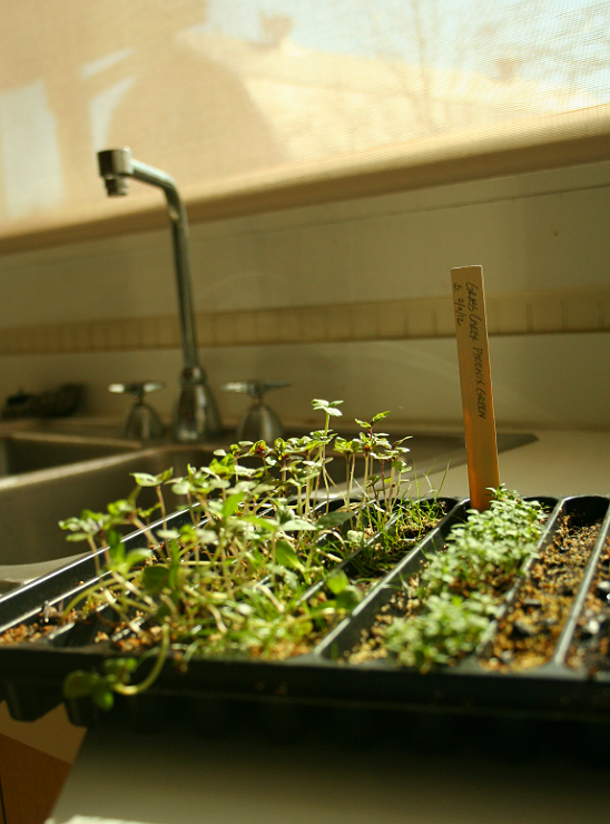
{"label": "translucent beige window shade pulled down above the sink", "polygon": [[610,158],[610,4],[20,0],[2,8],[0,251]]}

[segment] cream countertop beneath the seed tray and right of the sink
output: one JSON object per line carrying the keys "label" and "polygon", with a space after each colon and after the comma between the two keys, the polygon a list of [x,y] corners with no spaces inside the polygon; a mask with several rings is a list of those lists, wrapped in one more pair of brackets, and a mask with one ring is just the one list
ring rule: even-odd
{"label": "cream countertop beneath the seed tray and right of the sink", "polygon": [[[610,433],[537,435],[500,455],[503,483],[525,496],[610,493]],[[449,470],[442,492],[468,496],[465,467]],[[358,751],[329,739],[281,745],[188,730],[90,732],[50,822],[608,821],[610,767],[548,746],[511,763],[468,738],[452,752],[423,755],[401,740]]]}

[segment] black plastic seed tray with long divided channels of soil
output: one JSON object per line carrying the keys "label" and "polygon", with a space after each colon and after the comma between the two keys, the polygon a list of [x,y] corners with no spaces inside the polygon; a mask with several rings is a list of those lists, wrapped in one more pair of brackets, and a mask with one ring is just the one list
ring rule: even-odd
{"label": "black plastic seed tray with long divided channels of soil", "polygon": [[[426,556],[442,549],[451,528],[464,521],[468,501],[456,503],[449,516],[410,550],[397,567],[373,587],[352,616],[341,622],[313,653],[284,661],[248,658],[198,658],[180,673],[171,661],[165,666],[149,693],[122,699],[114,712],[131,720],[160,717],[171,707],[188,707],[193,717],[209,718],[219,707],[266,707],[267,718],[283,718],[295,707],[353,710],[417,710],[435,714],[510,714],[538,718],[610,720],[610,679],[591,678],[565,666],[564,657],[582,608],[586,590],[596,571],[598,558],[610,531],[610,498],[599,496],[538,499],[550,511],[540,545],[552,541],[563,514],[581,522],[601,519],[596,546],[575,595],[572,612],[555,645],[552,660],[522,674],[490,673],[478,665],[479,649],[454,668],[422,675],[386,661],[350,665],[343,656],[357,642],[396,587],[402,586]],[[188,512],[173,516],[178,526]],[[127,548],[144,546],[146,539],[135,533]],[[98,553],[101,557],[101,553]],[[346,562],[348,569],[350,561]],[[531,565],[529,565],[531,569]],[[529,569],[524,570],[525,575]],[[45,605],[53,606],[96,579],[92,557],[39,579],[0,599],[0,630],[31,620]],[[519,587],[519,585],[518,585]],[[518,587],[509,595],[516,597]],[[503,608],[504,610],[506,607]],[[51,635],[51,640],[20,645],[0,645],[0,674],[3,697],[11,715],[33,719],[62,700],[61,684],[75,669],[99,668],[110,651],[92,644],[92,631],[76,625]],[[488,639],[489,641],[489,639]],[[68,702],[73,723],[91,723],[90,703]],[[211,708],[211,709],[210,709]],[[150,710],[154,712],[150,712]]]}

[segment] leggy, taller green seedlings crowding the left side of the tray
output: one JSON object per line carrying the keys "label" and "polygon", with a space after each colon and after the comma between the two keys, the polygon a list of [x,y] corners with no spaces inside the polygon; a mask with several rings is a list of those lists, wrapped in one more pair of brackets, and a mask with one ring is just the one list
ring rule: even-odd
{"label": "leggy, taller green seedlings crowding the left side of the tray", "polygon": [[[109,504],[105,513],[86,511],[61,523],[70,540],[86,540],[96,552],[104,549],[106,559],[102,586],[79,594],[66,619],[75,609],[80,616],[96,612],[116,648],[128,630],[130,644],[135,639],[140,649],[138,666],[127,656],[109,659],[101,673],[71,674],[67,696],[89,696],[109,708],[115,694],[149,688],[169,657],[184,669],[194,656],[295,655],[354,608],[362,586],[335,568],[360,546],[360,536],[384,527],[395,512],[396,523],[416,520],[420,534],[426,517],[423,511],[415,517],[415,504],[401,498],[407,449],[375,430],[387,413],[358,421],[363,431],[348,441],[331,429],[340,405],[315,400],[324,425],[304,438],[233,444],[217,450],[209,465],[188,467],[179,478],[173,470],[135,473],[137,489],[129,499]],[[336,453],[347,467],[338,509],[327,472]],[[361,484],[356,457],[364,458]],[[168,527],[168,485],[189,508],[190,522],[179,530]],[[137,506],[141,488],[155,491],[151,509]],[[159,516],[160,528],[152,530]],[[120,537],[126,527],[144,530],[149,548],[126,552]],[[149,656],[155,665],[137,680]]]}

